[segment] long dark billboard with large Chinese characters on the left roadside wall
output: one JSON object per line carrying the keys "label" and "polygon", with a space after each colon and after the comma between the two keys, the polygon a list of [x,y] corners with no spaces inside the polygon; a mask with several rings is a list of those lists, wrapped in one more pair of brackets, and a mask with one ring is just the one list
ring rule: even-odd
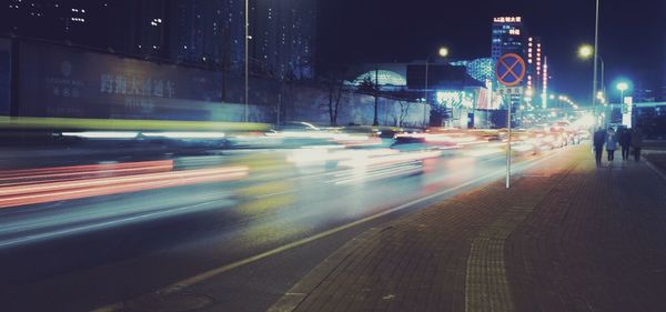
{"label": "long dark billboard with large Chinese characters on the left roadside wall", "polygon": [[19,49],[23,117],[210,120],[222,99],[220,72],[33,42]]}

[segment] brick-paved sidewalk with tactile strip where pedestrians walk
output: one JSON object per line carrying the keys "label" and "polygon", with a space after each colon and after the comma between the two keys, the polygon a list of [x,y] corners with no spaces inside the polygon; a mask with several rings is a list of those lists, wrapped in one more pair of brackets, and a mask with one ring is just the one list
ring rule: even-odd
{"label": "brick-paved sidewalk with tactile strip where pedestrians walk", "polygon": [[589,147],[371,229],[271,311],[666,311],[666,181]]}

